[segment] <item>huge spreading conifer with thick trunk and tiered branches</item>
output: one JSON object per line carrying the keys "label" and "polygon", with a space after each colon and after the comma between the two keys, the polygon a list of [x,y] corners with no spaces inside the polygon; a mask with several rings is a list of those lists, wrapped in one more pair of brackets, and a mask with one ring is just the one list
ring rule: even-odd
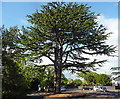
{"label": "huge spreading conifer with thick trunk and tiered branches", "polygon": [[23,27],[22,32],[18,29],[10,35],[21,51],[19,57],[45,56],[53,62],[54,92],[60,93],[62,68],[72,72],[94,69],[106,60],[88,62],[83,54],[110,56],[115,52],[114,46],[105,43],[111,33],[98,24],[97,16],[87,4],[52,2],[27,16],[32,24],[27,30]]}

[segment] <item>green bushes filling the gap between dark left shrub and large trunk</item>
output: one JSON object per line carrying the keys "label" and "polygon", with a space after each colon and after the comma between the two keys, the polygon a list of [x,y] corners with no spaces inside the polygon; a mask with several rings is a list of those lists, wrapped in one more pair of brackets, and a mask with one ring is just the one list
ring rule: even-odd
{"label": "green bushes filling the gap between dark left shrub and large trunk", "polygon": [[43,65],[35,65],[28,63],[22,67],[21,74],[25,77],[26,84],[29,89],[38,89],[38,84],[43,89],[53,88],[54,86],[54,68],[44,67]]}

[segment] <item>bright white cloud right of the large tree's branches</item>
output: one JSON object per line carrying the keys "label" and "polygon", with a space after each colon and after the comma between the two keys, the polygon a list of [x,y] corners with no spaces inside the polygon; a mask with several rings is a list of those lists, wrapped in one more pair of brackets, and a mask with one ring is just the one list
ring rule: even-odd
{"label": "bright white cloud right of the large tree's branches", "polygon": [[[100,24],[103,24],[107,28],[107,33],[112,32],[106,43],[109,45],[118,46],[118,19],[106,18],[103,15],[101,15],[98,17],[98,21]],[[116,52],[116,55],[118,55],[118,52]],[[110,74],[110,68],[112,66],[118,66],[118,57],[99,56],[97,58],[108,60],[108,62],[103,64],[103,67],[97,70],[98,73]]]}

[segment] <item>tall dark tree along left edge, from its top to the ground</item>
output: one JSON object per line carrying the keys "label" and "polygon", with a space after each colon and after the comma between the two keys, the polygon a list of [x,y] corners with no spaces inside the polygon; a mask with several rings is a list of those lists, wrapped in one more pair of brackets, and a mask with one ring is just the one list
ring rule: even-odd
{"label": "tall dark tree along left edge, from its top to the ground", "polygon": [[19,65],[14,61],[15,49],[9,41],[9,32],[2,28],[2,99],[24,99],[26,97],[26,83],[20,74]]}

